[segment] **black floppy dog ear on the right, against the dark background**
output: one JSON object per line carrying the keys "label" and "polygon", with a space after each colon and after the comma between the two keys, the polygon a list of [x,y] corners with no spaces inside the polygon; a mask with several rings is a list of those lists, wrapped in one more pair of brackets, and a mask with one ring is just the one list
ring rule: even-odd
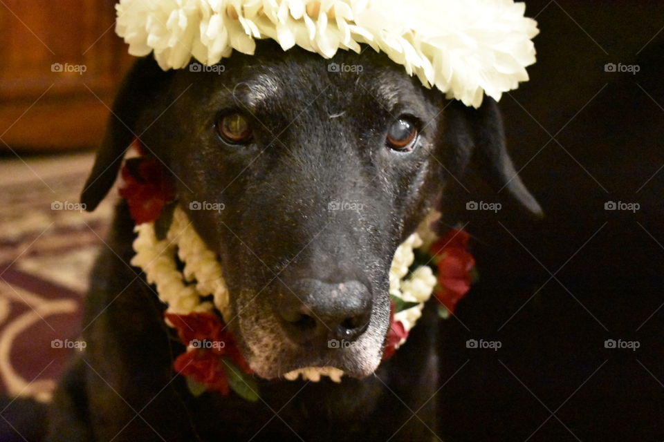
{"label": "black floppy dog ear on the right, against the dark background", "polygon": [[542,208],[526,189],[507,153],[503,119],[494,99],[484,97],[479,108],[454,100],[445,109],[445,142],[452,171],[474,168],[494,191],[537,216]]}

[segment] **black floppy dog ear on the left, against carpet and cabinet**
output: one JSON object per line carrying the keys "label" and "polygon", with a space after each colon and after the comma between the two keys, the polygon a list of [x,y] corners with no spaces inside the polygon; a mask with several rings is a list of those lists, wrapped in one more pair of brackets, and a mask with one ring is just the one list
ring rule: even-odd
{"label": "black floppy dog ear on the left, against carpet and cabinet", "polygon": [[86,211],[93,211],[113,186],[125,151],[140,135],[138,120],[145,108],[154,103],[156,94],[168,77],[169,73],[161,70],[151,56],[134,62],[124,77],[97,151],[95,165],[81,193]]}

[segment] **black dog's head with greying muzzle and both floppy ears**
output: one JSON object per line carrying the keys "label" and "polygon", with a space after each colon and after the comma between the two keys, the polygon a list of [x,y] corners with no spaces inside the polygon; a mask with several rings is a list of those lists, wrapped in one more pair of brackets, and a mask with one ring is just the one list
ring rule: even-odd
{"label": "black dog's head with greying muzzle and both floppy ears", "polygon": [[83,202],[104,198],[140,137],[219,253],[228,325],[264,378],[374,372],[394,251],[468,164],[540,210],[506,153],[495,102],[448,102],[370,49],[325,60],[263,41],[210,71],[140,59],[113,113]]}

